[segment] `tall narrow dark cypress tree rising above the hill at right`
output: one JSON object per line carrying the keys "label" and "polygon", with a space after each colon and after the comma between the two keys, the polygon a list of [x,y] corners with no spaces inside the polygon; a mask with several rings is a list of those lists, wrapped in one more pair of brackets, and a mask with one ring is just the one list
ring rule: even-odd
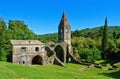
{"label": "tall narrow dark cypress tree rising above the hill at right", "polygon": [[103,50],[103,58],[106,59],[107,48],[108,48],[108,21],[107,17],[105,18],[104,30],[103,30],[103,39],[102,39],[102,50]]}

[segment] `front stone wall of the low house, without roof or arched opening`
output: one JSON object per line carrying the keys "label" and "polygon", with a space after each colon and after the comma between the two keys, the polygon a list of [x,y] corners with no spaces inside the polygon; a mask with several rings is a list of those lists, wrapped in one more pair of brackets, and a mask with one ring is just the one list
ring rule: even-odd
{"label": "front stone wall of the low house, without roof or arched opening", "polygon": [[17,64],[32,64],[32,59],[39,55],[43,64],[46,64],[45,59],[47,58],[45,55],[44,45],[14,45],[13,46],[13,54],[12,61]]}

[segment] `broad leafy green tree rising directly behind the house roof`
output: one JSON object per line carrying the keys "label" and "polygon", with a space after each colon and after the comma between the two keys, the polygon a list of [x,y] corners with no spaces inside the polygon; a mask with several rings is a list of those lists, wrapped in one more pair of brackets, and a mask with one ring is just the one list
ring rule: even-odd
{"label": "broad leafy green tree rising directly behind the house roof", "polygon": [[10,20],[8,23],[8,30],[12,35],[11,39],[37,39],[37,36],[27,27],[23,21],[20,20]]}

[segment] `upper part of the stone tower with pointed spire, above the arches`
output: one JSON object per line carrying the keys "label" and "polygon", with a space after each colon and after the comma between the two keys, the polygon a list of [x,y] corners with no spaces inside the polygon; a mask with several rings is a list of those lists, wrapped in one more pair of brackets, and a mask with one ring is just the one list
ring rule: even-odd
{"label": "upper part of the stone tower with pointed spire, above the arches", "polygon": [[61,42],[66,42],[69,46],[71,46],[71,28],[65,13],[62,15],[58,27],[58,43]]}

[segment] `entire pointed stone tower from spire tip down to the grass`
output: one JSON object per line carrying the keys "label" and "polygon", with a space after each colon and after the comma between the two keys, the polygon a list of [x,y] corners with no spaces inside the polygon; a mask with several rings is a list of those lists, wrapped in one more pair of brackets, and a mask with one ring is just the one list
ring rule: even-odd
{"label": "entire pointed stone tower from spire tip down to the grass", "polygon": [[[63,58],[64,61],[63,62],[70,62],[71,58],[69,56],[69,54],[72,54],[72,46],[71,46],[71,27],[70,24],[67,20],[67,16],[65,13],[63,13],[60,24],[58,26],[58,43],[60,44],[60,46],[63,48]],[[58,51],[56,51],[57,53]],[[62,52],[60,52],[62,53]],[[57,54],[57,56],[59,57],[59,55],[61,54]]]}

